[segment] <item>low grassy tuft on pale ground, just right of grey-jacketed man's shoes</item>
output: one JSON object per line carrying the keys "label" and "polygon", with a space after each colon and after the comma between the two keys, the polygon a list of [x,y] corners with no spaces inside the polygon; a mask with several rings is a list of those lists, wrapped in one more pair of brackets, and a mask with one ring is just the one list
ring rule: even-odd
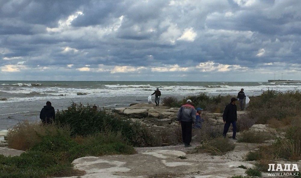
{"label": "low grassy tuft on pale ground, just right of grey-jacketed man's shoes", "polygon": [[229,142],[227,138],[218,137],[213,140],[206,141],[197,149],[209,152],[212,155],[222,155],[233,150],[234,147],[234,143]]}

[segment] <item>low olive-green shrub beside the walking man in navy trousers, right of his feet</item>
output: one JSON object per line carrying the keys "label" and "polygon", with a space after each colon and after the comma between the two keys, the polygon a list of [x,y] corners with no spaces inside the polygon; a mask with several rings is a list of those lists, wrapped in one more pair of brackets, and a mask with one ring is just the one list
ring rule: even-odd
{"label": "low olive-green shrub beside the walking man in navy trousers, right of his feet", "polygon": [[270,134],[266,131],[243,131],[240,134],[237,142],[244,143],[263,143],[265,140],[268,140]]}

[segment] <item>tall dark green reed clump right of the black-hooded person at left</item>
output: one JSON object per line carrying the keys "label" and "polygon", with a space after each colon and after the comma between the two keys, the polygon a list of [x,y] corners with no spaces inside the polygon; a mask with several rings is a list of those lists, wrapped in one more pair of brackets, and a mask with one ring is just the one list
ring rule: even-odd
{"label": "tall dark green reed clump right of the black-hooded person at left", "polygon": [[90,105],[72,103],[67,110],[58,112],[55,120],[61,125],[68,125],[73,137],[120,131],[133,146],[157,146],[158,144],[151,131],[138,122],[116,117],[106,110],[95,112]]}

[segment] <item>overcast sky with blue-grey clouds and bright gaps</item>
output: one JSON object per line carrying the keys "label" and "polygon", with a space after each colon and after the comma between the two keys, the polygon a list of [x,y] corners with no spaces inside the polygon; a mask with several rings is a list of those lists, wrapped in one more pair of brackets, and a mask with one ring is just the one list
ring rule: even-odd
{"label": "overcast sky with blue-grey clouds and bright gaps", "polygon": [[0,80],[301,80],[300,0],[0,0]]}

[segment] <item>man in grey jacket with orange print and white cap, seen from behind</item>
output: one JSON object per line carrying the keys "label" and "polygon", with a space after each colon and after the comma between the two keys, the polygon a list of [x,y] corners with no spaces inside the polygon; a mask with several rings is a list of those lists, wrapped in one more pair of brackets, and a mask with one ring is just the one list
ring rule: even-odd
{"label": "man in grey jacket with orange print and white cap, seen from behind", "polygon": [[191,100],[187,100],[187,103],[182,105],[178,112],[178,121],[181,124],[182,140],[185,147],[191,146],[192,124],[195,123],[196,113]]}

